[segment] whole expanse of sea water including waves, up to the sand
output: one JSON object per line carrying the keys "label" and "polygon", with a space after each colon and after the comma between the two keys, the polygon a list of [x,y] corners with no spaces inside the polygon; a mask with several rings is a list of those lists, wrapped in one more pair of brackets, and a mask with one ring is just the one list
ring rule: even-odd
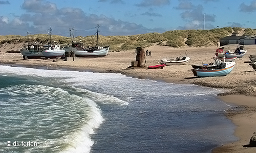
{"label": "whole expanse of sea water including waves, up to the sand", "polygon": [[237,140],[221,92],[0,65],[0,152],[210,152]]}

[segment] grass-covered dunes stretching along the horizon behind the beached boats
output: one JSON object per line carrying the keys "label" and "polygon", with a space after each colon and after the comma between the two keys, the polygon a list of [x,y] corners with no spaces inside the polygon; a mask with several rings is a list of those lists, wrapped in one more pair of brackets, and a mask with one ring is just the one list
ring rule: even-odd
{"label": "grass-covered dunes stretching along the horizon behind the beached boats", "polygon": [[[211,30],[175,30],[160,33],[147,33],[141,35],[131,36],[99,36],[99,44],[101,46],[110,45],[110,50],[120,51],[127,49],[135,49],[137,47],[148,47],[151,45],[166,45],[171,47],[183,46],[212,46],[217,45],[219,40],[223,37],[230,36],[233,32],[244,33],[245,35],[255,35],[256,29],[244,29],[239,27],[225,27]],[[61,45],[68,45],[71,43],[71,38],[52,35],[52,40]],[[96,45],[96,36],[77,36],[75,41],[82,42],[84,45]],[[0,36],[0,44],[4,43],[28,43],[36,42],[40,44],[47,44],[49,36],[46,34],[36,34],[28,36],[8,35]]]}

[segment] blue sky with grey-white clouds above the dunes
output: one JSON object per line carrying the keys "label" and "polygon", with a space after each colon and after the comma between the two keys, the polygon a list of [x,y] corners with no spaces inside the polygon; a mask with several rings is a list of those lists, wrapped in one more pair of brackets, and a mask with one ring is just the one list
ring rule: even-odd
{"label": "blue sky with grey-white clouds above the dunes", "polygon": [[256,0],[0,0],[0,35],[136,35],[170,30],[256,29]]}

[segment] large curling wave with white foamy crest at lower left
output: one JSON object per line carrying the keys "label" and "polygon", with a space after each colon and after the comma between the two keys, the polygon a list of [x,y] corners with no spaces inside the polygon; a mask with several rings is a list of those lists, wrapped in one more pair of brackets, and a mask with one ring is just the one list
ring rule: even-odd
{"label": "large curling wave with white foamy crest at lower left", "polygon": [[[40,144],[38,151],[90,152],[90,135],[104,120],[94,100],[44,85],[15,85],[0,92],[6,93],[0,103],[5,106],[0,113],[6,126],[3,134],[16,133],[11,139],[35,138]],[[10,122],[17,117],[18,123]]]}

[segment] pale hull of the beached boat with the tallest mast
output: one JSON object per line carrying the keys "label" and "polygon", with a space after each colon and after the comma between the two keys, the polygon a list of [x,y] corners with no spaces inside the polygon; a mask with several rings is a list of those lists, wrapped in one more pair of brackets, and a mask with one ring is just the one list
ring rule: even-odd
{"label": "pale hull of the beached boat with the tallest mast", "polygon": [[103,47],[102,49],[97,50],[84,50],[82,48],[76,47],[65,47],[66,52],[73,52],[76,57],[103,57],[108,55],[109,53],[109,46]]}

